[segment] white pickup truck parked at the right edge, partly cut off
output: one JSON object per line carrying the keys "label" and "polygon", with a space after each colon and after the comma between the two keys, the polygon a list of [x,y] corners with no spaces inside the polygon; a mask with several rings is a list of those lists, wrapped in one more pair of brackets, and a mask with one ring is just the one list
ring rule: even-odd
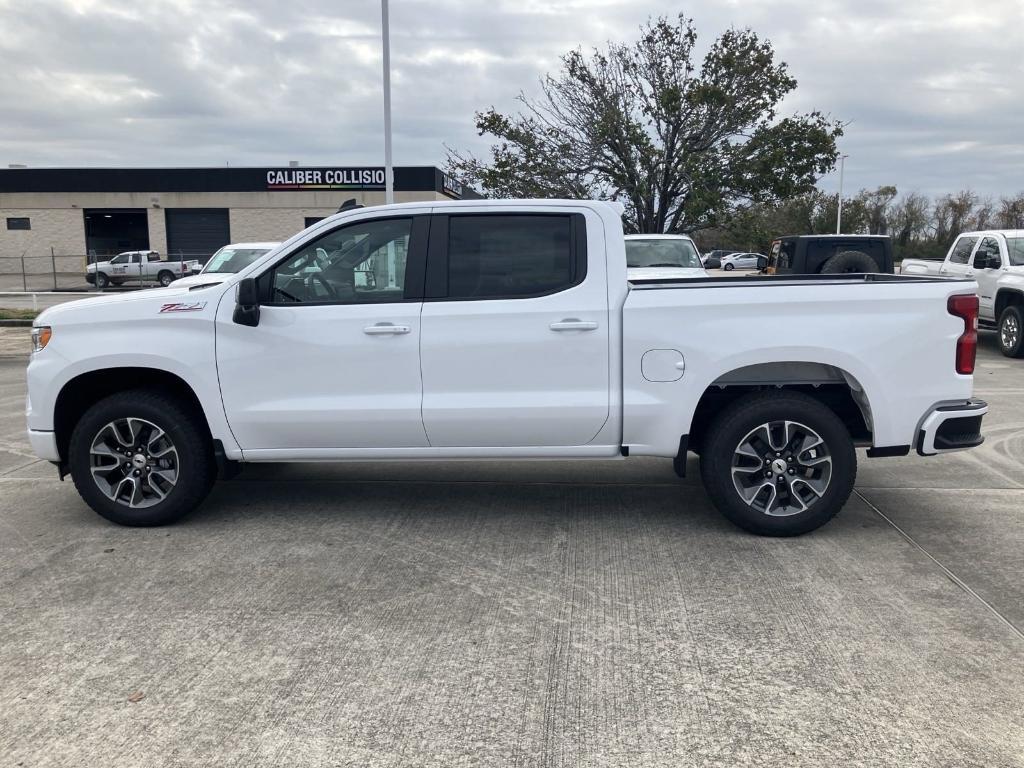
{"label": "white pickup truck parked at the right edge, partly cut off", "polygon": [[998,331],[1005,355],[1024,357],[1024,229],[964,232],[944,260],[906,259],[900,272],[975,281],[978,323]]}

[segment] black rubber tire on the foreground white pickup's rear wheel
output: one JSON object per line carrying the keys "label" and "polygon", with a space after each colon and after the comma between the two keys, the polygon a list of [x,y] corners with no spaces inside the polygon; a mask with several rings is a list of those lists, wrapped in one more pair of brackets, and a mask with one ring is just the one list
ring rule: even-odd
{"label": "black rubber tire on the foreground white pickup's rear wheel", "polygon": [[[785,426],[787,422],[790,426]],[[764,452],[754,449],[757,458],[740,456],[740,447],[753,444],[746,442],[748,437],[766,424],[776,425],[774,436],[788,437],[788,430],[793,430],[787,447],[796,442],[808,447]],[[782,425],[781,432],[778,425]],[[802,429],[823,440],[824,450],[821,444],[802,439]],[[764,441],[766,449],[770,440],[771,435]],[[734,467],[740,470],[736,481]],[[823,477],[826,468],[828,476]],[[700,477],[715,507],[739,527],[761,536],[800,536],[824,525],[846,504],[857,477],[857,454],[846,425],[817,400],[799,392],[757,393],[733,402],[709,426],[700,454]],[[744,501],[738,487],[748,480],[748,492],[758,488],[752,501]],[[812,483],[820,488],[820,496]],[[797,498],[791,495],[794,488]],[[771,501],[765,503],[768,498]],[[769,514],[780,499],[792,501],[774,507],[774,514]],[[790,513],[790,508],[799,511]]]}

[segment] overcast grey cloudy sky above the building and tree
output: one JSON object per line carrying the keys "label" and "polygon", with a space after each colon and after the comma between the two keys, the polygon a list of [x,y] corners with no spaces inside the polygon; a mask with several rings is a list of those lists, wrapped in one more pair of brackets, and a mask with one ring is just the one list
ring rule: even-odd
{"label": "overcast grey cloudy sky above the building and tree", "polygon": [[[474,111],[680,10],[850,123],[847,189],[1024,190],[1024,0],[391,0],[395,163],[484,150]],[[0,0],[0,167],[381,164],[380,50],[378,0]]]}

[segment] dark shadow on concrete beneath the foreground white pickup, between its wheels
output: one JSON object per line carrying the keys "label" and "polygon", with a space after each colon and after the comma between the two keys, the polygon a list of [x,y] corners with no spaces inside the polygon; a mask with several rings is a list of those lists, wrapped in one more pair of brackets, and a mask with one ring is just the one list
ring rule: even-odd
{"label": "dark shadow on concrete beneath the foreground white pickup, between its wheels", "polygon": [[676,477],[671,462],[642,461],[633,468],[626,462],[252,466],[219,483],[186,524],[238,518],[287,518],[289,524],[614,518],[634,524],[687,519],[688,525],[731,529],[692,476],[695,460],[685,479]]}

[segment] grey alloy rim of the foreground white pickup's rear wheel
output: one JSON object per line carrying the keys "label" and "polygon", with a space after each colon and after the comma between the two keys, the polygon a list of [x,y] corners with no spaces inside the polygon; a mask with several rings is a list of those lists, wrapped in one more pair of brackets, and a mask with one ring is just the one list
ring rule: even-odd
{"label": "grey alloy rim of the foreground white pickup's rear wheel", "polygon": [[732,456],[732,483],[743,504],[773,517],[806,512],[831,479],[828,446],[810,427],[773,421],[752,429]]}

